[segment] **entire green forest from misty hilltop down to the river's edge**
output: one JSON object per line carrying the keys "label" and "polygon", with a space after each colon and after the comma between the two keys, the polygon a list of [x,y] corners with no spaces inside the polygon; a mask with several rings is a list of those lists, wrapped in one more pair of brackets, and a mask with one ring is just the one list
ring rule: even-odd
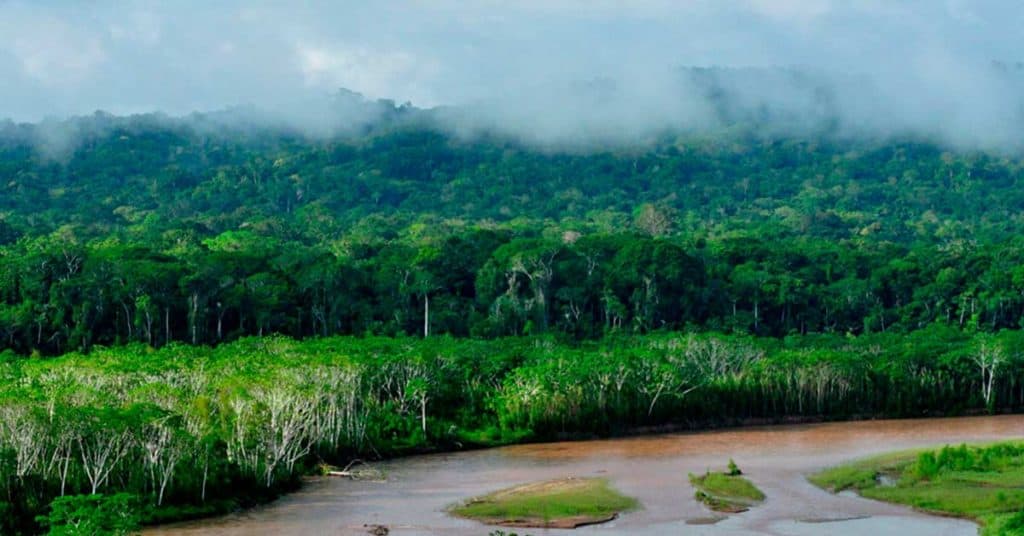
{"label": "entire green forest from misty hilltop down to the river's edge", "polygon": [[355,106],[382,119],[317,139],[0,123],[0,533],[353,457],[1024,406],[1019,159],[757,125],[542,150]]}

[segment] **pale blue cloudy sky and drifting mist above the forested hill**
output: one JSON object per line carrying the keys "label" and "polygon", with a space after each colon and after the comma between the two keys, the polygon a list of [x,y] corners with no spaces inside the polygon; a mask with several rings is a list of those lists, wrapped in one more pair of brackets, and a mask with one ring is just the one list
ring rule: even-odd
{"label": "pale blue cloudy sky and drifting mist above the forested hill", "polygon": [[744,125],[1017,153],[1022,22],[956,0],[8,2],[0,117],[36,125],[0,130],[49,155],[112,121],[95,110],[317,139],[414,122],[586,150]]}

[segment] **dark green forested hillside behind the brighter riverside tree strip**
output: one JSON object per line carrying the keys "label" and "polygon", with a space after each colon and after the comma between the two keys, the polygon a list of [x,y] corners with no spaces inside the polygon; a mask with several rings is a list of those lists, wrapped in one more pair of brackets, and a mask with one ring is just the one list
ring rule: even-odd
{"label": "dark green forested hillside behind the brighter riverside tree strip", "polygon": [[7,123],[0,347],[1024,315],[1016,157],[756,123],[554,151],[359,102],[318,136],[244,110]]}

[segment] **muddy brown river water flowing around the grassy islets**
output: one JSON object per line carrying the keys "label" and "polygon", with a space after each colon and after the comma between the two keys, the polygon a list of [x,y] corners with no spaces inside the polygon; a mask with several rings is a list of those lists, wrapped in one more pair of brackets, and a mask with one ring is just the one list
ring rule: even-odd
{"label": "muddy brown river water flowing around the grassy islets", "polygon": [[[300,491],[254,510],[152,528],[145,534],[365,535],[365,526],[379,524],[400,536],[486,535],[494,528],[452,518],[445,508],[517,484],[599,476],[639,499],[643,508],[604,525],[575,529],[572,536],[968,536],[977,533],[973,523],[852,494],[833,495],[806,477],[886,451],[1022,437],[1024,415],[1012,415],[765,426],[435,454],[379,464],[386,482],[313,479]],[[715,516],[693,499],[687,473],[723,468],[730,457],[768,498],[748,512],[712,523]]]}

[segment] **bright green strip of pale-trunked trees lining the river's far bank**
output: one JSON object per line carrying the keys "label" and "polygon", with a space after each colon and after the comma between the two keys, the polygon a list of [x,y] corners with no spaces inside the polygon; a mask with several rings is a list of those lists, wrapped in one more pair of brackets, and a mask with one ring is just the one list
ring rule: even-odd
{"label": "bright green strip of pale-trunked trees lining the river's far bank", "polygon": [[[979,410],[989,386],[975,358],[984,345],[1016,347],[1017,334],[936,326],[910,336],[667,333],[573,345],[275,336],[8,356],[0,520],[5,533],[33,532],[55,497],[117,492],[134,495],[144,523],[209,514],[355,456],[666,423]],[[1020,385],[1004,376],[1013,363],[996,369],[990,407],[1020,404]]]}

